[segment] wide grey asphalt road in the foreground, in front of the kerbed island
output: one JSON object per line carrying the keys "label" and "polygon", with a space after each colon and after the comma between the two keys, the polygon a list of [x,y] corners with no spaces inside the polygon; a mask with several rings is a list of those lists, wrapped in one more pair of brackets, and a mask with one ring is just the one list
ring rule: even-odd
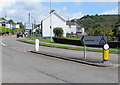
{"label": "wide grey asphalt road in the foreground, in front of the kerbed island", "polygon": [[28,51],[34,50],[34,45],[16,41],[15,37],[3,37],[0,45],[3,83],[118,82],[116,67],[96,67],[33,54]]}

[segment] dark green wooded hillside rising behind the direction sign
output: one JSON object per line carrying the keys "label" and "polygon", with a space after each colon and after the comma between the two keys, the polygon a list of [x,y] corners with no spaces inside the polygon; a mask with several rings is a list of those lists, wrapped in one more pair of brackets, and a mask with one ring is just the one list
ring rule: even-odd
{"label": "dark green wooded hillside rising behind the direction sign", "polygon": [[77,19],[77,23],[85,28],[88,35],[108,35],[111,40],[115,38],[118,15],[86,15]]}

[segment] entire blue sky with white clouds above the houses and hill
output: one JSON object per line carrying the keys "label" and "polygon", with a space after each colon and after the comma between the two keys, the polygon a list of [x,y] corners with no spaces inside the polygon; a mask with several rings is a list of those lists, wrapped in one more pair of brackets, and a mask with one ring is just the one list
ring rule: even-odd
{"label": "entire blue sky with white clouds above the houses and hill", "polygon": [[[110,1],[110,0],[109,0]],[[83,2],[83,1],[68,1],[54,2],[52,1],[52,9],[65,20],[81,18],[84,15],[103,15],[103,14],[118,14],[118,2]],[[40,23],[50,12],[50,2],[41,1],[5,1],[0,0],[0,17],[13,19],[15,22],[28,23],[28,13],[31,14],[31,22]]]}

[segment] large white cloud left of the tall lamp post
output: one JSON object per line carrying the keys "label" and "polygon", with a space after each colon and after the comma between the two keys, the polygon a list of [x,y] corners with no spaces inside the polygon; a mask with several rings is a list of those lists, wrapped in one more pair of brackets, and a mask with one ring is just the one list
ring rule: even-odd
{"label": "large white cloud left of the tall lamp post", "polygon": [[39,2],[15,2],[6,3],[9,6],[2,6],[0,10],[0,16],[7,14],[7,19],[13,19],[16,22],[28,22],[28,13],[31,13],[31,22],[36,20],[37,23],[40,23],[42,19],[49,14],[49,8],[42,6]]}

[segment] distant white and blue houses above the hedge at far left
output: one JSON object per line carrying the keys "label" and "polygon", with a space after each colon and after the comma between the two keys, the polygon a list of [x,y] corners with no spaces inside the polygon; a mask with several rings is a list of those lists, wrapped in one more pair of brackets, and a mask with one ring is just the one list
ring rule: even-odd
{"label": "distant white and blue houses above the hedge at far left", "polygon": [[0,20],[0,26],[4,26],[6,28],[20,28],[19,24],[10,24],[8,21],[6,20]]}

